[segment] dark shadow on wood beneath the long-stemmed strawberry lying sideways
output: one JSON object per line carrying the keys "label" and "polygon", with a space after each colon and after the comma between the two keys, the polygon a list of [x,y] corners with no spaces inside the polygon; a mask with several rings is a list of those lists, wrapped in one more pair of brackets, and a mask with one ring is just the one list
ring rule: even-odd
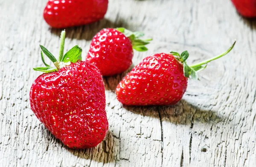
{"label": "dark shadow on wood beneath the long-stemmed strawberry lying sideways", "polygon": [[[181,100],[172,106],[145,106],[131,107],[123,106],[128,111],[143,116],[158,117],[161,121],[168,121],[173,124],[191,125],[194,123],[218,123],[222,120],[214,111],[200,109],[185,100]],[[158,112],[158,115],[152,112]]]}

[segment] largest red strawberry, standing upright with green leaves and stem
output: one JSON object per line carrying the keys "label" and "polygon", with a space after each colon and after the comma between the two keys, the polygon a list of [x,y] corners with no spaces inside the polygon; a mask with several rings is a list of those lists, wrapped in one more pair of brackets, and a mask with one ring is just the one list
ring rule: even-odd
{"label": "largest red strawberry, standing upright with green leaves and stem", "polygon": [[81,61],[81,48],[74,46],[63,56],[65,32],[61,33],[59,61],[41,46],[54,62],[51,67],[34,68],[45,72],[30,89],[30,105],[36,117],[67,147],[95,147],[108,131],[105,88],[99,69]]}

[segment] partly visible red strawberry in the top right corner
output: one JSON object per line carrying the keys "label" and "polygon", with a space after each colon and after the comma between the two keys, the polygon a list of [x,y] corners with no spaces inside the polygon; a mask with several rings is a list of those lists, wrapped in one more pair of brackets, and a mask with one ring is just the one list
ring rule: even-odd
{"label": "partly visible red strawberry in the top right corner", "polygon": [[244,17],[256,17],[256,0],[232,0],[236,10]]}

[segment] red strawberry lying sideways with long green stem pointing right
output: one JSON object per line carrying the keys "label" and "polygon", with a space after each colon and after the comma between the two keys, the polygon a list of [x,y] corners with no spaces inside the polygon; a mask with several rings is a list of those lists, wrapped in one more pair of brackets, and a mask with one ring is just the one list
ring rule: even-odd
{"label": "red strawberry lying sideways with long green stem pointing right", "polygon": [[[236,42],[235,42],[236,43]],[[198,79],[197,72],[206,68],[207,63],[230,52],[235,43],[221,55],[188,66],[187,51],[181,55],[160,53],[143,59],[116,87],[117,100],[125,105],[172,105],[186,92],[188,78]]]}

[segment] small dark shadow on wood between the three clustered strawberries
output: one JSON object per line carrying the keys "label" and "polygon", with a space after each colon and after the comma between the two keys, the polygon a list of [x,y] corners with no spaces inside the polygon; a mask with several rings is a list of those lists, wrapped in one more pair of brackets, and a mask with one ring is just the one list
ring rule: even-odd
{"label": "small dark shadow on wood between the three clustered strawberries", "polygon": [[118,83],[125,77],[125,75],[131,71],[131,69],[134,68],[134,64],[132,64],[129,69],[127,69],[125,72],[119,75],[113,75],[110,77],[104,77],[104,83],[105,83],[105,89],[111,90],[112,92],[116,92],[116,86]]}

